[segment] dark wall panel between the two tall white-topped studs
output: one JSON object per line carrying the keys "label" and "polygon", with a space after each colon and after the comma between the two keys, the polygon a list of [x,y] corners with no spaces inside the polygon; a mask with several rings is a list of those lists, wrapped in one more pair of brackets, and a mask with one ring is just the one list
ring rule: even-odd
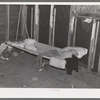
{"label": "dark wall panel between the two tall white-topped studs", "polygon": [[50,5],[40,5],[39,16],[39,42],[48,44],[49,41],[49,21]]}

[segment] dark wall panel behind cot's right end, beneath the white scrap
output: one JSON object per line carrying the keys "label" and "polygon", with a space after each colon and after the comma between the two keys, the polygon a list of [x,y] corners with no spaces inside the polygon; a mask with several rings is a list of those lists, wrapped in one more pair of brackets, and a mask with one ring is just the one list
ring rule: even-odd
{"label": "dark wall panel behind cot's right end, beneath the white scrap", "polygon": [[[78,18],[77,20],[75,46],[84,47],[89,50],[93,21],[88,24],[86,22],[83,22],[83,20],[85,19]],[[81,62],[84,63],[86,67],[88,64],[88,56],[89,52],[81,59]]]}

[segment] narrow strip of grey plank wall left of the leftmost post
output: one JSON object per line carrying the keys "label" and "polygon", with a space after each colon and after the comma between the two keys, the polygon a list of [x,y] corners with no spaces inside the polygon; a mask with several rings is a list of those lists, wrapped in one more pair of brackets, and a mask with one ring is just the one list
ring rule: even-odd
{"label": "narrow strip of grey plank wall left of the leftmost post", "polygon": [[0,43],[6,40],[6,5],[0,5]]}

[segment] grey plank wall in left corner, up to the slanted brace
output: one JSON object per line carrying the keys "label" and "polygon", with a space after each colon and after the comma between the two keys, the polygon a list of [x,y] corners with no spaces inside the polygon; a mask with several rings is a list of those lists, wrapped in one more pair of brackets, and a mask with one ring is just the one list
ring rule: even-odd
{"label": "grey plank wall in left corner, up to the slanted brace", "polygon": [[[20,7],[19,5],[10,5],[8,11],[8,5],[0,5],[0,44],[8,40],[8,38],[11,41],[15,40],[19,7]],[[8,17],[9,21],[7,21]],[[8,22],[9,22],[9,29],[8,29]]]}

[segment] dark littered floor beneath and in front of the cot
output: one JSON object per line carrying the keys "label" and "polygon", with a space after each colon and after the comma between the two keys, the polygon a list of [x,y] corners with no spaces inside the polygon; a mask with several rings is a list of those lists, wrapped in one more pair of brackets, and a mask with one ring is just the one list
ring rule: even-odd
{"label": "dark littered floor beneath and in front of the cot", "polygon": [[[0,87],[4,88],[98,88],[79,72],[67,75],[49,65],[42,69],[36,63],[36,56],[13,49],[0,58]],[[85,73],[86,75],[86,73]],[[90,75],[90,74],[87,74]],[[94,81],[94,80],[92,80]],[[99,82],[99,81],[98,81]]]}

